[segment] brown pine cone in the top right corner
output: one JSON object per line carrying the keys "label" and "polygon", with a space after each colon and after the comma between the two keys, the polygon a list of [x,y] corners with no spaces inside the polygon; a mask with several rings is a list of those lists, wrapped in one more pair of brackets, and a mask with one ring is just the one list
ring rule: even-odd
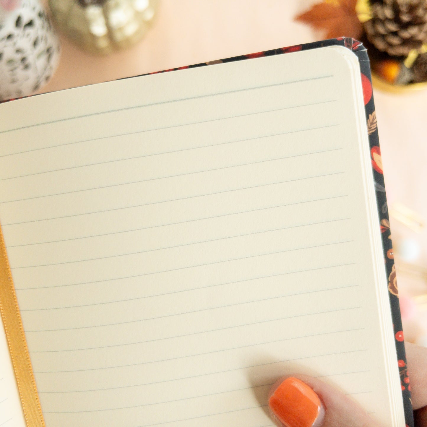
{"label": "brown pine cone in the top right corner", "polygon": [[427,42],[427,0],[372,0],[369,41],[390,56],[407,56]]}

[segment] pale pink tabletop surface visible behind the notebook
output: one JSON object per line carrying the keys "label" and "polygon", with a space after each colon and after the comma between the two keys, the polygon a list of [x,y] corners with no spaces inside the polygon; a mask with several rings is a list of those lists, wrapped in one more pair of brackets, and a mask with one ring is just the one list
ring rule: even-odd
{"label": "pale pink tabletop surface visible behind the notebook", "polygon": [[[152,29],[135,47],[106,57],[91,56],[62,37],[56,74],[41,92],[105,82],[199,62],[269,50],[322,38],[295,23],[311,0],[160,0]],[[427,89],[408,94],[374,91],[389,206],[395,202],[427,218]],[[395,242],[415,239],[427,267],[427,229],[417,234],[391,218]],[[398,267],[402,295],[427,292],[427,278]],[[407,338],[427,334],[427,301],[405,322]]]}

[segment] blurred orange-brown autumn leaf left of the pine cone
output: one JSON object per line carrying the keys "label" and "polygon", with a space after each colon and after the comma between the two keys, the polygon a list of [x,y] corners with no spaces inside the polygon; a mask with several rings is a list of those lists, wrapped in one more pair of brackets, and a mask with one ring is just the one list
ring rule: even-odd
{"label": "blurred orange-brown autumn leaf left of the pine cone", "polygon": [[360,38],[362,24],[356,14],[357,0],[326,0],[295,19],[326,32],[326,38]]}

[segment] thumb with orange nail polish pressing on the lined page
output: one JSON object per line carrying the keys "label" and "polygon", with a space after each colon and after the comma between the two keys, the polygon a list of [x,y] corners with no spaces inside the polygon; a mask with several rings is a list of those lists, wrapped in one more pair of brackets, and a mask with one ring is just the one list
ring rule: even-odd
{"label": "thumb with orange nail polish pressing on the lined page", "polygon": [[348,396],[304,375],[282,378],[275,383],[268,404],[279,427],[379,427]]}

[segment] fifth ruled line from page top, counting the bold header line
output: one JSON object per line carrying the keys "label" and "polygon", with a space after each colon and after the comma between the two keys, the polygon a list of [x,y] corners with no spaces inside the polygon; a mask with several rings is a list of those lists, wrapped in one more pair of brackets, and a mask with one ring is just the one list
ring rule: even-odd
{"label": "fifth ruled line from page top, counting the bold header line", "polygon": [[104,210],[100,210],[100,211],[75,213],[75,214],[72,214],[72,215],[55,216],[53,218],[43,218],[43,219],[33,219],[33,220],[29,220],[29,221],[10,222],[9,224],[3,225],[3,228],[6,227],[7,225],[29,224],[29,223],[32,223],[32,222],[50,221],[52,219],[72,218],[74,216],[89,215],[89,214],[92,214],[92,213],[104,213],[104,212],[111,212],[111,211],[120,211],[122,209],[140,208],[142,206],[158,205],[160,203],[168,203],[168,202],[178,202],[178,201],[181,201],[181,200],[195,199],[197,197],[216,196],[217,194],[231,193],[233,191],[252,190],[254,188],[268,187],[269,185],[286,184],[287,182],[304,181],[305,179],[323,178],[325,176],[342,175],[342,174],[345,174],[345,173],[346,173],[345,171],[333,172],[333,173],[326,173],[324,175],[307,176],[307,177],[303,177],[303,178],[295,178],[295,179],[290,179],[290,180],[286,180],[286,181],[276,181],[276,182],[270,182],[270,183],[267,183],[267,184],[252,185],[250,187],[232,188],[231,190],[222,190],[222,191],[217,191],[215,193],[196,194],[194,196],[181,197],[181,198],[178,198],[178,199],[160,200],[158,202],[143,203],[141,205],[125,206],[125,207],[122,207],[122,208],[112,208],[112,209],[104,209]]}

